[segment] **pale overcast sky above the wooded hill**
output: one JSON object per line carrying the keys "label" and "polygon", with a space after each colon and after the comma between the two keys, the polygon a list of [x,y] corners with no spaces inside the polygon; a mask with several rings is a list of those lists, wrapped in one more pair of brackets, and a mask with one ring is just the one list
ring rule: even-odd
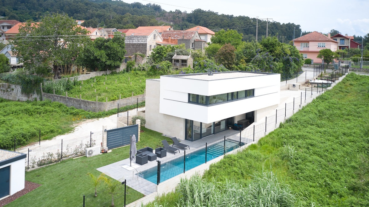
{"label": "pale overcast sky above the wooded hill", "polygon": [[[126,3],[159,4],[166,11],[194,9],[218,14],[272,18],[273,21],[300,25],[302,31],[328,33],[331,29],[349,36],[369,33],[369,0],[123,0]],[[201,25],[200,25],[201,26]]]}

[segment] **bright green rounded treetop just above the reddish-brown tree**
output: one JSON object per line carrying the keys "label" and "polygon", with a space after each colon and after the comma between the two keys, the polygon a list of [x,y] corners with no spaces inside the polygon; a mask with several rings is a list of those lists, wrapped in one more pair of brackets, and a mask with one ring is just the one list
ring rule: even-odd
{"label": "bright green rounded treetop just above the reddish-brown tree", "polygon": [[218,43],[224,45],[225,43],[230,43],[236,48],[242,43],[242,34],[239,34],[236,30],[224,29],[219,32],[215,32],[215,35],[211,37],[212,43]]}

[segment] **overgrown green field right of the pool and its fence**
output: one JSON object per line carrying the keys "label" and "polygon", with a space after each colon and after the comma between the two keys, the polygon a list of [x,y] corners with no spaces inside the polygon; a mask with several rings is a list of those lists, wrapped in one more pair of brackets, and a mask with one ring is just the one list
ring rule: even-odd
{"label": "overgrown green field right of the pool and its fence", "polygon": [[[215,179],[222,185],[249,186],[255,183],[255,172],[269,171],[292,193],[306,198],[302,206],[369,206],[368,85],[369,76],[348,74],[258,144],[211,165],[201,185],[211,185]],[[259,186],[267,181],[261,179]],[[197,189],[192,187],[188,192]],[[267,187],[255,197],[258,193],[281,196]],[[199,199],[205,195],[199,194]],[[177,190],[161,197],[158,204],[177,206],[190,200],[183,202],[185,197]]]}

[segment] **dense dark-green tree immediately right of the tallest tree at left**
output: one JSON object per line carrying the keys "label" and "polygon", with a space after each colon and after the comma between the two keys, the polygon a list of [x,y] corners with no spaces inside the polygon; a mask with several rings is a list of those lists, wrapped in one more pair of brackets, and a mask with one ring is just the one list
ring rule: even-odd
{"label": "dense dark-green tree immediately right of the tallest tree at left", "polygon": [[107,70],[120,66],[124,59],[124,36],[115,33],[113,38],[96,38],[78,55],[78,62],[91,70]]}

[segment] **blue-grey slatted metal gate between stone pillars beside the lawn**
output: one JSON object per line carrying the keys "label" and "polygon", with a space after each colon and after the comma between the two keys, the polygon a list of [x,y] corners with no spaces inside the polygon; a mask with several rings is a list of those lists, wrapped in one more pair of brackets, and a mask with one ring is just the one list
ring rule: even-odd
{"label": "blue-grey slatted metal gate between stone pillars beside the lawn", "polygon": [[130,144],[130,136],[132,135],[136,136],[137,142],[138,124],[107,130],[106,142],[108,149]]}

